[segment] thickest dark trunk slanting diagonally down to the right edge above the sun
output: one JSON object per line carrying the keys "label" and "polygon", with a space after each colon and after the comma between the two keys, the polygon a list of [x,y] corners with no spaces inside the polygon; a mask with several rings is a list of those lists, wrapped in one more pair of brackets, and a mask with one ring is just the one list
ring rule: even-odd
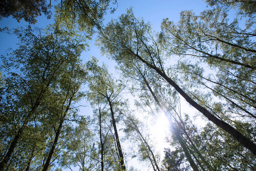
{"label": "thickest dark trunk slanting diagonally down to the right edge above the sun", "polygon": [[140,55],[133,53],[132,51],[131,55],[135,56],[137,59],[141,60],[141,62],[145,63],[148,67],[155,70],[159,75],[162,76],[169,84],[172,86],[190,105],[192,105],[194,108],[196,108],[198,111],[200,111],[205,117],[207,117],[210,121],[212,121],[214,124],[216,124],[218,127],[224,129],[226,132],[228,132],[231,136],[234,137],[235,140],[239,141],[245,148],[249,149],[253,154],[256,155],[256,144],[253,143],[253,141],[247,139],[245,136],[242,135],[242,133],[238,132],[237,129],[231,127],[231,125],[225,123],[225,121],[222,121],[218,119],[216,116],[212,115],[206,108],[202,107],[196,101],[194,101],[191,97],[189,97],[175,82],[173,82],[172,79],[170,79],[168,76],[165,75],[164,72],[159,70],[159,68],[153,66],[152,64],[145,61],[143,58],[141,58]]}

